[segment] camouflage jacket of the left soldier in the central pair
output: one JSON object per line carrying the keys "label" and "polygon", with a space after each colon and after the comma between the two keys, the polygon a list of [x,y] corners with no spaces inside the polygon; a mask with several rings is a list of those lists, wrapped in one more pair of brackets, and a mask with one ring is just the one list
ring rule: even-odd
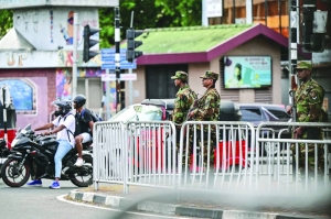
{"label": "camouflage jacket of the left soldier in the central pair", "polygon": [[182,124],[188,117],[189,109],[192,107],[196,94],[191,90],[189,85],[180,88],[175,95],[174,109],[172,112],[172,121],[175,124]]}

